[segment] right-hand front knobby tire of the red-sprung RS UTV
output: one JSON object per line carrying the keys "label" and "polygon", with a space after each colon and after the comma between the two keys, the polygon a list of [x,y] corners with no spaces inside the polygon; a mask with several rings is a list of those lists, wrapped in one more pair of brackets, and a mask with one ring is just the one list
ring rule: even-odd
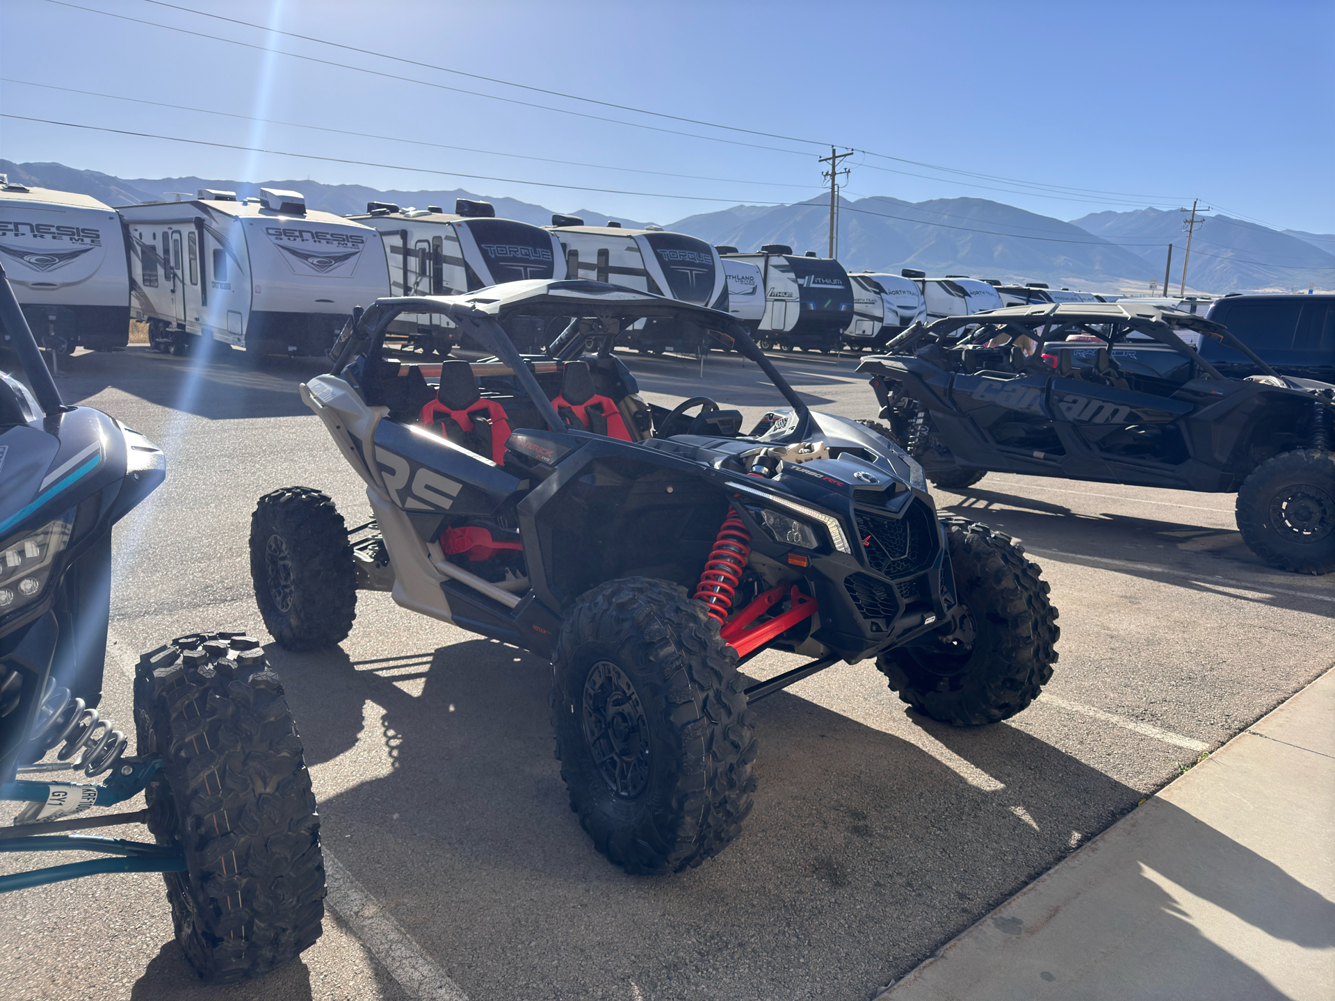
{"label": "right-hand front knobby tire of the red-sprung RS UTV", "polygon": [[876,666],[904,702],[933,719],[953,726],[1008,719],[1052,679],[1061,630],[1048,582],[1009,535],[967,518],[941,522],[972,642],[901,647]]}

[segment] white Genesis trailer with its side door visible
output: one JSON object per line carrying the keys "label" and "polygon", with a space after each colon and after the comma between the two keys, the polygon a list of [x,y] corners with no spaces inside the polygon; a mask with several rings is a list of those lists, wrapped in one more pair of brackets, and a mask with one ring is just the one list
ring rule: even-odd
{"label": "white Genesis trailer with its side door visible", "polygon": [[255,354],[318,355],[384,295],[380,235],[295,191],[200,190],[120,210],[129,235],[131,315],[156,351],[219,342]]}

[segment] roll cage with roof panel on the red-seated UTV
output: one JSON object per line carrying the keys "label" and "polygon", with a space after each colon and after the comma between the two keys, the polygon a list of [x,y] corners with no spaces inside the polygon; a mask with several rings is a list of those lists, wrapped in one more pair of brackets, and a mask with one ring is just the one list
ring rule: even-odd
{"label": "roll cage with roof panel on the red-seated UTV", "polygon": [[[517,291],[511,291],[517,290]],[[611,355],[617,336],[641,319],[672,319],[692,323],[732,342],[737,352],[754,362],[797,414],[796,424],[784,434],[766,435],[773,442],[801,442],[812,436],[816,423],[802,398],[756,347],[746,327],[726,312],[682,303],[653,292],[587,280],[517,282],[457,296],[398,296],[376,299],[366,311],[354,311],[330,348],[330,375],[340,376],[358,358],[367,364],[382,360],[390,323],[400,314],[441,314],[493,350],[509,366],[518,386],[537,407],[551,431],[567,430],[547,394],[533,374],[537,362],[566,362],[595,351]],[[565,318],[565,330],[545,355],[525,355],[514,346],[502,322],[511,315]]]}

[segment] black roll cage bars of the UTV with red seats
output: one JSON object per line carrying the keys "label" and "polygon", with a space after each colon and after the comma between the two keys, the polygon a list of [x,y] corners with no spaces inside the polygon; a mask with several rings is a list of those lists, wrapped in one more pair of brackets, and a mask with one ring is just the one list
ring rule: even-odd
{"label": "black roll cage bars of the UTV with red seats", "polygon": [[[622,290],[618,286],[605,287],[643,295],[637,290]],[[765,352],[756,347],[756,342],[750,339],[750,332],[744,324],[726,312],[676,303],[670,299],[663,299],[661,304],[654,302],[625,304],[610,302],[590,303],[581,299],[527,303],[518,300],[498,314],[491,314],[466,303],[445,302],[434,296],[376,299],[364,312],[359,310],[354,311],[352,318],[334,342],[334,348],[330,352],[332,360],[330,375],[342,374],[343,368],[358,355],[366,355],[367,359],[378,359],[390,323],[405,312],[430,312],[449,316],[461,330],[470,334],[481,344],[491,348],[497,358],[514,370],[519,384],[533,399],[542,419],[553,431],[563,432],[569,428],[557,414],[555,407],[551,406],[551,400],[547,399],[547,395],[538,386],[538,380],[529,368],[530,359],[525,359],[501,326],[501,320],[507,315],[571,316],[574,314],[571,322],[549,347],[549,356],[554,360],[570,360],[567,355],[577,356],[579,347],[587,338],[598,338],[601,340],[598,347],[599,356],[609,355],[617,335],[630,326],[625,322],[627,316],[634,318],[630,323],[641,318],[678,319],[694,323],[704,330],[718,332],[724,338],[730,339],[738,354],[754,362],[784,395],[788,404],[797,412],[797,426],[788,434],[772,440],[804,440],[814,431],[814,420],[806,403],[788,384],[788,380],[780,371],[774,368],[773,362],[769,360]],[[582,330],[585,326],[594,326],[590,320],[595,320],[597,326],[602,327],[602,330]],[[567,338],[569,342],[566,340]]]}

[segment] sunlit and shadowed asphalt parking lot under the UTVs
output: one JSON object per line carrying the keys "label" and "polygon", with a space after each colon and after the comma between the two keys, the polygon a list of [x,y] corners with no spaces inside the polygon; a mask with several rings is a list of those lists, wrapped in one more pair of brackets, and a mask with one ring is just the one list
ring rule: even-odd
{"label": "sunlit and shadowed asphalt parking lot under the UTVs", "polygon": [[[748,420],[781,403],[736,356],[626,360],[654,402],[710,395]],[[776,360],[813,407],[874,418],[856,362]],[[174,635],[268,643],[246,549],[259,495],[319,487],[362,521],[364,487],[295,391],[319,368],[142,347],[65,366],[67,402],[168,456],[115,539],[104,715],[129,722],[134,659]],[[160,877],[89,877],[0,897],[0,996],[869,998],[1335,658],[1335,575],[1262,565],[1232,495],[989,475],[937,503],[1023,538],[1052,585],[1061,659],[1015,719],[955,730],[908,713],[869,662],[826,670],[757,705],[742,836],[700,869],[627,877],[569,809],[547,666],[363,594],[340,649],[268,643],[335,860],[324,937],[267,980],[204,988]]]}

